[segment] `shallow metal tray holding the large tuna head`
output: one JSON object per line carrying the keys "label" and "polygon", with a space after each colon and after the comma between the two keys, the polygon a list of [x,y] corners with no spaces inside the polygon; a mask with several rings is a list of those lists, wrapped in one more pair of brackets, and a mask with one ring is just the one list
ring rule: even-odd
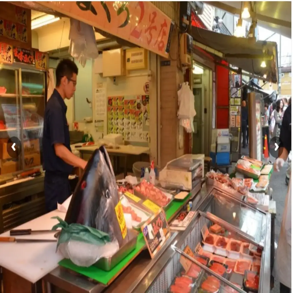
{"label": "shallow metal tray holding the large tuna head", "polygon": [[112,270],[122,259],[124,259],[129,253],[131,253],[136,247],[138,231],[134,229],[127,230],[129,241],[123,245],[114,255],[109,258],[100,258],[94,266],[97,268],[110,271]]}

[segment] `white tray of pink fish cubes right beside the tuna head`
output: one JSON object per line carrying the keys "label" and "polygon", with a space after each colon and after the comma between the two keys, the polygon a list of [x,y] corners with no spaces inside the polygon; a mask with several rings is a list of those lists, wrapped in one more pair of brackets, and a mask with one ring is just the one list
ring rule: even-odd
{"label": "white tray of pink fish cubes right beside the tuna head", "polygon": [[[131,214],[132,217],[132,227],[133,229],[140,229],[140,226],[151,217],[151,214],[142,210],[137,205],[130,203],[125,195],[120,198],[122,204],[123,212],[126,214]],[[130,209],[130,210],[128,210]]]}

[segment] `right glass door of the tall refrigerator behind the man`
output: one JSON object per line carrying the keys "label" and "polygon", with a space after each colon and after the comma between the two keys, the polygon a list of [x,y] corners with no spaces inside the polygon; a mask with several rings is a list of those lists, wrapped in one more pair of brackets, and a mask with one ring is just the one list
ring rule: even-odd
{"label": "right glass door of the tall refrigerator behind the man", "polygon": [[42,164],[45,72],[27,69],[19,71],[23,169],[29,169]]}

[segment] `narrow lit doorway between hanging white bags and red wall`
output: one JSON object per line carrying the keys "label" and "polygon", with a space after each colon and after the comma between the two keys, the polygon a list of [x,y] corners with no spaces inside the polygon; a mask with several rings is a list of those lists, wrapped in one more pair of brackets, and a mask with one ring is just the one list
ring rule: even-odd
{"label": "narrow lit doorway between hanging white bags and red wall", "polygon": [[212,70],[194,62],[192,85],[196,111],[193,120],[192,153],[209,156],[212,131]]}

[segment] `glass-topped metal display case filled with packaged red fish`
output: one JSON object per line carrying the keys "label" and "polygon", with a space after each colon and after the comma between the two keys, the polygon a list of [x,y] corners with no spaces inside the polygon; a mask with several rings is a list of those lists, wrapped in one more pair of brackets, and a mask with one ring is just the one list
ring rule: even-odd
{"label": "glass-topped metal display case filled with packaged red fish", "polygon": [[132,292],[270,292],[270,214],[217,188],[195,209],[196,218],[178,234],[173,252]]}

